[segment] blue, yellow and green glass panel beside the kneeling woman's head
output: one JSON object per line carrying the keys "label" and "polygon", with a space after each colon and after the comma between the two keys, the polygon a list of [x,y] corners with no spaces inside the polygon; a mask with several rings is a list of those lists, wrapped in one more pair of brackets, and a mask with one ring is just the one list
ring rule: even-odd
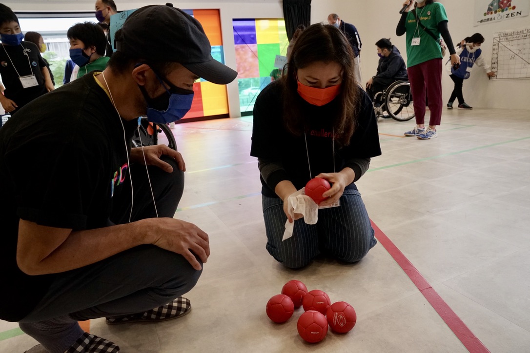
{"label": "blue, yellow and green glass panel beside the kneeling woman's head", "polygon": [[271,82],[276,56],[287,55],[289,40],[283,19],[233,20],[232,24],[241,113],[249,115],[256,97]]}

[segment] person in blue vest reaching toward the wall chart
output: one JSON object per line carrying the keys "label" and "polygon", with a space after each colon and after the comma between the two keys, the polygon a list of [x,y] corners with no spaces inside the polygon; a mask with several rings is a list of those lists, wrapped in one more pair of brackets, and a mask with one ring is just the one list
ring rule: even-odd
{"label": "person in blue vest reaching toward the wall chart", "polygon": [[456,49],[456,54],[460,57],[460,67],[454,69],[453,66],[448,67],[449,77],[455,83],[455,88],[447,103],[447,109],[453,109],[453,103],[458,98],[458,109],[471,110],[472,106],[465,103],[464,95],[462,93],[462,86],[464,80],[471,76],[471,70],[475,63],[482,67],[486,71],[488,77],[495,77],[496,74],[491,71],[490,66],[484,60],[482,56],[482,50],[480,49],[481,44],[484,43],[484,37],[482,34],[475,33],[471,37],[464,39]]}

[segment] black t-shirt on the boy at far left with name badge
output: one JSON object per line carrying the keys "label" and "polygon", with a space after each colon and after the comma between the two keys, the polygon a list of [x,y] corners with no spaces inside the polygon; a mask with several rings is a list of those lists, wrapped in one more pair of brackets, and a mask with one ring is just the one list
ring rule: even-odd
{"label": "black t-shirt on the boy at far left with name badge", "polygon": [[[5,49],[0,49],[0,75],[5,87],[4,95],[15,102],[20,109],[33,99],[47,93],[41,71],[46,67],[46,62],[40,56],[37,46],[26,41],[22,41],[20,46],[0,45]],[[24,55],[24,51],[28,55]],[[35,75],[39,85],[23,88],[19,75],[22,77]]]}

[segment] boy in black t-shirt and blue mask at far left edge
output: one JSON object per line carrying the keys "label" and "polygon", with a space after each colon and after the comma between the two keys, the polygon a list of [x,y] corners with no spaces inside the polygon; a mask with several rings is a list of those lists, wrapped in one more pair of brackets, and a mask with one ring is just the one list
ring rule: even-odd
{"label": "boy in black t-shirt and blue mask at far left edge", "polygon": [[39,48],[23,38],[15,13],[0,4],[0,75],[6,87],[4,94],[0,95],[0,103],[11,115],[54,89]]}

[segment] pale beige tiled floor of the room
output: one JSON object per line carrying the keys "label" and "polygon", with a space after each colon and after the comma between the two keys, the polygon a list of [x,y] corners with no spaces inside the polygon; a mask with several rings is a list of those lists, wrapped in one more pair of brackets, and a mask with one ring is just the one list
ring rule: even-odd
{"label": "pale beige tiled floor of the room", "polygon": [[[383,156],[357,183],[370,218],[492,352],[530,351],[530,111],[444,111],[439,137],[403,138],[413,122],[379,120]],[[211,256],[177,321],[91,332],[128,352],[464,352],[437,312],[379,243],[359,264],[317,260],[287,270],[264,248],[252,118],[176,125],[187,164],[176,218],[208,232]],[[347,334],[316,345],[295,311],[274,324],[265,306],[289,279],[357,311]],[[34,341],[0,322],[0,351]]]}

